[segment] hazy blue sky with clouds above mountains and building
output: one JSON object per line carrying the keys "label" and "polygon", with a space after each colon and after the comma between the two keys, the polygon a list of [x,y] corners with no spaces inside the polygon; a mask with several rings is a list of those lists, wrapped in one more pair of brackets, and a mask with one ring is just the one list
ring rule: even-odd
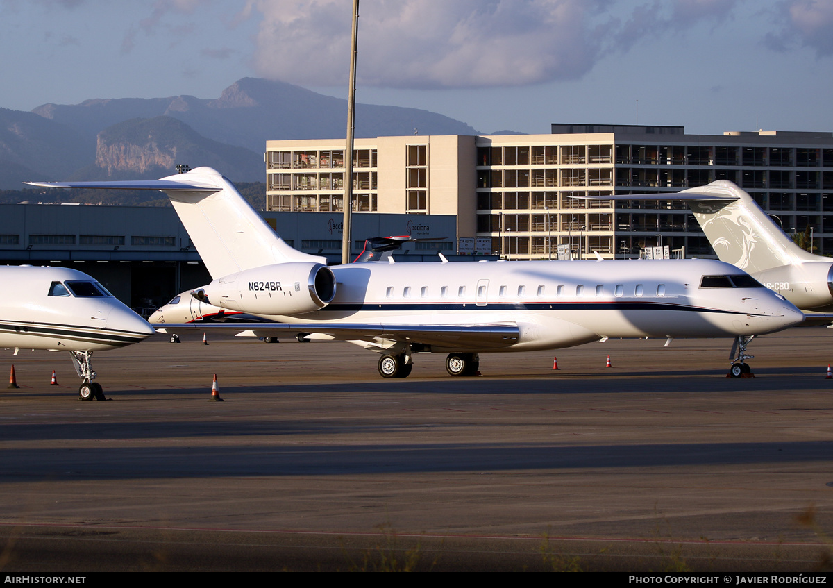
{"label": "hazy blue sky with clouds above mountains and building", "polygon": [[[0,0],[0,107],[347,96],[350,0]],[[357,100],[481,132],[551,122],[833,131],[833,0],[362,0]],[[637,106],[638,103],[638,106]]]}

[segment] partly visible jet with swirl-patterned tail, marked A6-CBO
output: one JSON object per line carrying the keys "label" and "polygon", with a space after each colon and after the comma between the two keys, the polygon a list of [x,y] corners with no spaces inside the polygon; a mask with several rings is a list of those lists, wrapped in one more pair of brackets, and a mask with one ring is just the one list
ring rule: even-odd
{"label": "partly visible jet with swirl-patterned tail, marked A6-CBO", "polygon": [[806,252],[758,206],[726,180],[670,194],[606,196],[604,200],[686,202],[721,262],[749,273],[806,311],[807,320],[831,322],[833,260]]}

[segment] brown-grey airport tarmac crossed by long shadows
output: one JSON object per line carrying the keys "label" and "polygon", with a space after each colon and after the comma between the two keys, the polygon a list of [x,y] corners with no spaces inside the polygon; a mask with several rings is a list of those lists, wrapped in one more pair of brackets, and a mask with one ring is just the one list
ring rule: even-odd
{"label": "brown-grey airport tarmac crossed by long shadows", "polygon": [[3,356],[0,570],[831,565],[831,330],[756,338],[745,379],[731,340],[383,380],[349,343],[209,337],[97,353],[106,402],[77,401],[68,354]]}

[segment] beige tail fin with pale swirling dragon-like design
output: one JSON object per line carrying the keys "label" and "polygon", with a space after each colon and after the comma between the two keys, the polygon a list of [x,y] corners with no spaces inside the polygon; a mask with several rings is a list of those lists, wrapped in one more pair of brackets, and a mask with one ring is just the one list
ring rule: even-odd
{"label": "beige tail fin with pale swirling dragon-like design", "polygon": [[[700,194],[704,199],[696,199]],[[721,262],[756,273],[820,258],[798,247],[754,198],[732,182],[711,182],[683,190],[680,195],[687,196],[691,212]]]}

